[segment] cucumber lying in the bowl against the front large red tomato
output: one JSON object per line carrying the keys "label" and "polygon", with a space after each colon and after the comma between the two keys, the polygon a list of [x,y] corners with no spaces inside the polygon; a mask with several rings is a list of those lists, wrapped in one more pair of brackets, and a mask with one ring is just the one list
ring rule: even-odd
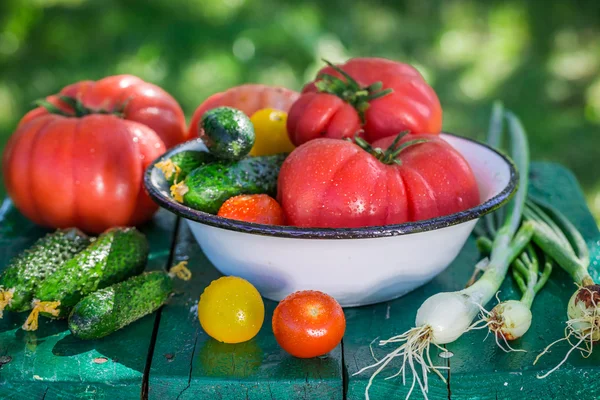
{"label": "cucumber lying in the bowl against the front large red tomato", "polygon": [[240,194],[277,193],[277,177],[287,154],[248,157],[237,163],[216,162],[190,172],[183,203],[216,214],[230,197]]}

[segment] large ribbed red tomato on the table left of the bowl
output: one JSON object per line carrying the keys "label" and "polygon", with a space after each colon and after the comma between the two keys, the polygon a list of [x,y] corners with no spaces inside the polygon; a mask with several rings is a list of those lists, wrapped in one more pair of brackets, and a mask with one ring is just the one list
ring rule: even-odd
{"label": "large ribbed red tomato on the table left of the bowl", "polygon": [[188,139],[178,103],[128,75],[83,81],[23,117],[3,154],[8,194],[34,222],[98,233],[157,210],[144,169]]}

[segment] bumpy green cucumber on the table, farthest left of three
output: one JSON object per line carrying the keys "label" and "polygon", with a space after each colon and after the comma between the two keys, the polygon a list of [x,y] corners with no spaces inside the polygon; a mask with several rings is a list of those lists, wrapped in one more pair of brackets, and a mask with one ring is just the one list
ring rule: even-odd
{"label": "bumpy green cucumber on the table, farthest left of three", "polygon": [[15,257],[0,275],[0,286],[12,289],[13,298],[6,311],[31,309],[38,286],[61,265],[85,249],[90,239],[78,229],[62,229],[37,240],[32,247]]}

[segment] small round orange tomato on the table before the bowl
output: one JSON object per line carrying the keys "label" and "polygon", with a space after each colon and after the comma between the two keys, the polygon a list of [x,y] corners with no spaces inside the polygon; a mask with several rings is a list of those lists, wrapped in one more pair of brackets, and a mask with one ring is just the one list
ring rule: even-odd
{"label": "small round orange tomato on the table before the bowl", "polygon": [[292,293],[281,300],[272,323],[277,343],[298,358],[329,353],[346,330],[340,304],[328,294],[314,290]]}

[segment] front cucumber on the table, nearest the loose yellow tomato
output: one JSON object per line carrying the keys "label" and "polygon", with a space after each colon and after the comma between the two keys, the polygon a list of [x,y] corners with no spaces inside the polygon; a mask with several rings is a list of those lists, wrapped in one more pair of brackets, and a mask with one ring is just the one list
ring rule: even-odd
{"label": "front cucumber on the table, nearest the loose yellow tomato", "polygon": [[173,282],[164,272],[147,272],[100,289],[81,300],[69,315],[79,339],[99,339],[156,311],[169,299]]}

